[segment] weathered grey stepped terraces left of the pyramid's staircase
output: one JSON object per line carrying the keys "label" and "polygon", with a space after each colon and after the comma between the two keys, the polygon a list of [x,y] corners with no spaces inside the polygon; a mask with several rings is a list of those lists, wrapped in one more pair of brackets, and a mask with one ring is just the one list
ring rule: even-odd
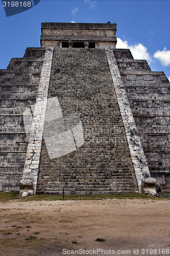
{"label": "weathered grey stepped terraces left of the pyramid's staircase", "polygon": [[28,138],[22,113],[33,105],[44,55],[43,48],[27,48],[23,58],[12,58],[6,70],[0,70],[0,189],[19,190]]}

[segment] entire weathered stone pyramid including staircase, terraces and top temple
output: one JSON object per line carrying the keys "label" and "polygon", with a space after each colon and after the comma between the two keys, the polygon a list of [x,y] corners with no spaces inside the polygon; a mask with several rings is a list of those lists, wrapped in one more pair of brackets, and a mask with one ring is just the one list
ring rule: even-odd
{"label": "entire weathered stone pyramid including staircase, terraces and top temple", "polygon": [[[66,25],[67,31],[61,33]],[[73,32],[74,26],[81,32]],[[28,48],[23,58],[13,58],[6,70],[0,70],[0,190],[18,190],[19,180],[26,178],[33,181],[34,193],[37,187],[39,193],[61,194],[64,186],[66,194],[120,194],[138,192],[137,177],[142,192],[154,195],[153,180],[142,181],[149,181],[150,173],[157,189],[169,190],[170,87],[164,73],[152,72],[145,60],[134,60],[128,49],[112,49],[115,58],[110,56],[109,61],[117,68],[110,72],[103,48],[115,48],[116,24],[45,23],[42,27],[41,43],[56,47],[52,73],[46,72],[44,48]],[[72,40],[73,48],[61,48],[63,38]],[[46,80],[50,80],[49,92]],[[48,98],[57,98],[60,108],[58,114],[56,107],[54,113],[47,111],[45,120]],[[27,108],[30,119],[22,116]],[[33,116],[36,122],[30,132]],[[80,122],[71,124],[71,120]],[[62,133],[69,135],[75,147],[52,159],[49,154],[61,153],[52,140],[54,131],[59,135],[55,138],[63,141]],[[72,145],[65,142],[62,152]],[[32,188],[22,194],[32,194]]]}

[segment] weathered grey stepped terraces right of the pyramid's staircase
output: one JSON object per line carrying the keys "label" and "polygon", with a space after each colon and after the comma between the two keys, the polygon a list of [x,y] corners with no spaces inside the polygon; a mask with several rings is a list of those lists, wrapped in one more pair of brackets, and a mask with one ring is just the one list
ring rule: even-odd
{"label": "weathered grey stepped terraces right of the pyramid's staircase", "polygon": [[170,86],[163,72],[152,72],[146,60],[130,50],[114,49],[151,176],[170,189]]}

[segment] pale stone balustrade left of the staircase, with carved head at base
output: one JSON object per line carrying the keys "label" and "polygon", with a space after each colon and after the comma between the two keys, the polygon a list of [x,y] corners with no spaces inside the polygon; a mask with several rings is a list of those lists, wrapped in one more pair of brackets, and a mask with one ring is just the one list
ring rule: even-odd
{"label": "pale stone balustrade left of the staircase, with carved head at base", "polygon": [[25,166],[20,180],[20,195],[22,197],[36,194],[39,161],[42,146],[42,135],[45,121],[45,111],[50,84],[54,48],[46,48],[41,70],[41,77],[31,126]]}

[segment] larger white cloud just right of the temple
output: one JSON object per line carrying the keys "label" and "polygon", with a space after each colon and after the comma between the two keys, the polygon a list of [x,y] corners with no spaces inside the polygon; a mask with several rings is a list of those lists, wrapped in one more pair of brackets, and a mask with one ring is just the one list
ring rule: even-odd
{"label": "larger white cloud just right of the temple", "polygon": [[147,48],[144,47],[142,44],[129,46],[128,41],[122,41],[120,38],[117,37],[117,49],[130,49],[134,59],[146,59],[148,63],[152,62],[152,58],[150,54],[147,52]]}

